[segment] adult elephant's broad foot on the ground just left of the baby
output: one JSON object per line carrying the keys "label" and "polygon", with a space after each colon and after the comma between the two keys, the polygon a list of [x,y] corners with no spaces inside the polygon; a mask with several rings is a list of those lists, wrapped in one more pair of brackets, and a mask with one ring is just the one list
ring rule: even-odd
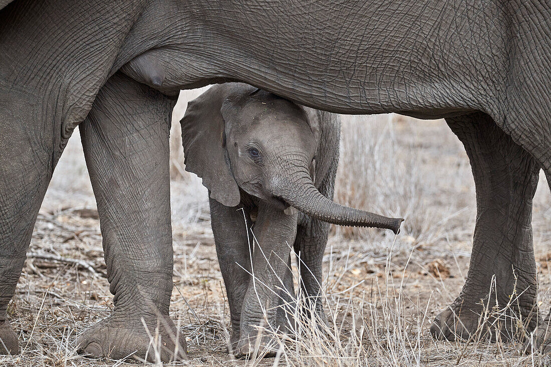
{"label": "adult elephant's broad foot on the ground just left of the baby", "polygon": [[117,320],[112,316],[77,338],[77,352],[109,359],[171,362],[186,359],[186,341],[168,316],[148,320]]}

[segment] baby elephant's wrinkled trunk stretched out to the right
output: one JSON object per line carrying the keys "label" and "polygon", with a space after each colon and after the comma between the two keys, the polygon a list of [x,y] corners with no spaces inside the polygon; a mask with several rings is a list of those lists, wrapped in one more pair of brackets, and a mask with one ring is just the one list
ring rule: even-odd
{"label": "baby elephant's wrinkled trunk stretched out to the right", "polygon": [[307,170],[296,172],[289,181],[292,184],[278,185],[284,187],[274,190],[274,194],[310,217],[337,225],[385,228],[395,234],[400,230],[402,218],[388,218],[329,200],[314,186]]}

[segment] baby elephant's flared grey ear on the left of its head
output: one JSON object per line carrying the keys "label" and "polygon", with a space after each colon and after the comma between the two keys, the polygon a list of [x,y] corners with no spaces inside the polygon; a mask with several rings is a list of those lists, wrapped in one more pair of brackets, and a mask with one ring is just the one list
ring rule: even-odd
{"label": "baby elephant's flared grey ear on the left of its head", "polygon": [[239,204],[239,187],[226,156],[224,119],[220,107],[231,89],[216,85],[188,102],[180,120],[186,171],[203,179],[210,197],[228,207]]}

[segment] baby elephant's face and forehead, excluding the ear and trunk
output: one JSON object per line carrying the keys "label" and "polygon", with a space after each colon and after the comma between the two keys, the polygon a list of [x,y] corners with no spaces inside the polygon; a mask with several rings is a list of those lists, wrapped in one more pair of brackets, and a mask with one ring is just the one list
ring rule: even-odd
{"label": "baby elephant's face and forehead, excluding the ear and trunk", "polygon": [[[246,88],[222,105],[226,154],[237,186],[276,207],[298,174],[310,183],[317,126],[305,110],[267,91]],[[295,182],[295,185],[299,183]]]}

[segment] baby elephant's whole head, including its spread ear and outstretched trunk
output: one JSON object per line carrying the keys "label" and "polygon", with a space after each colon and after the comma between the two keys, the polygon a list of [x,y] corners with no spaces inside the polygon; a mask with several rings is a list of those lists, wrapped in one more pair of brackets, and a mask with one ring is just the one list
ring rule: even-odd
{"label": "baby elephant's whole head, including its spread ear and outstretched trunk", "polygon": [[218,202],[237,206],[241,188],[279,209],[293,206],[325,222],[397,233],[402,219],[341,206],[316,189],[320,129],[314,111],[247,84],[226,83],[191,101],[180,122],[186,170],[202,177]]}

